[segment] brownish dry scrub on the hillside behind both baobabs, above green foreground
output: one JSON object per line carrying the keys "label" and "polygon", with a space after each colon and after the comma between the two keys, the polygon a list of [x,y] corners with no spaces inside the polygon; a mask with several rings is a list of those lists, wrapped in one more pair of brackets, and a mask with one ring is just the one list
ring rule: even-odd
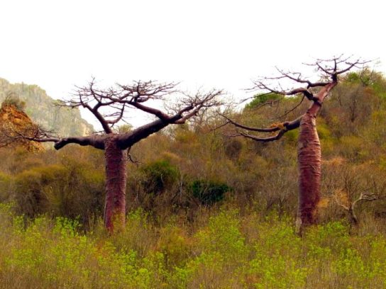
{"label": "brownish dry scrub on the hillside behind both baobabs, above green foreground", "polygon": [[[321,220],[340,220],[342,205],[360,193],[385,192],[386,81],[380,74],[349,74],[326,101],[318,120],[324,157]],[[234,118],[248,125],[272,123],[299,102],[256,98]],[[267,98],[267,99],[266,99]],[[262,102],[263,101],[263,102]],[[277,122],[298,115],[308,103]],[[169,128],[131,149],[138,162],[128,162],[128,211],[143,208],[155,219],[171,213],[189,220],[197,208],[234,200],[243,208],[258,203],[260,210],[294,215],[297,204],[297,131],[280,142],[260,144],[229,138],[231,127],[214,130],[224,120],[215,114],[191,125]],[[38,154],[22,149],[0,150],[0,200],[13,200],[18,212],[76,217],[88,223],[101,215],[104,202],[104,159],[96,149],[65,147]],[[351,180],[352,179],[352,180]],[[351,180],[351,181],[350,181]],[[350,184],[351,182],[351,184]],[[354,182],[354,183],[353,183]],[[378,217],[385,200],[359,203]]]}

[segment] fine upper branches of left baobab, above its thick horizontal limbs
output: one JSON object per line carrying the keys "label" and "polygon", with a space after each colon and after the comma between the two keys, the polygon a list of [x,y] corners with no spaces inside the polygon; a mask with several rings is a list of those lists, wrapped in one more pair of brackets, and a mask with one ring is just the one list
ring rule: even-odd
{"label": "fine upper branches of left baobab, above its thick horizontal limbs", "polygon": [[[145,104],[151,101],[163,101],[166,96],[177,93],[181,93],[181,91],[177,90],[175,83],[159,84],[155,81],[134,81],[130,85],[116,84],[116,87],[109,89],[98,89],[94,79],[92,79],[88,86],[78,87],[75,97],[65,102],[64,105],[86,108],[99,120],[104,132],[109,134],[113,132],[112,128],[116,123],[124,120],[128,108],[136,108],[150,113],[170,124],[184,123],[201,108],[217,105],[218,102],[215,98],[221,94],[221,91],[213,90],[209,94],[197,93],[194,96],[184,94],[184,99],[181,100],[184,106],[172,115]],[[104,108],[108,108],[110,113],[102,113]]]}

